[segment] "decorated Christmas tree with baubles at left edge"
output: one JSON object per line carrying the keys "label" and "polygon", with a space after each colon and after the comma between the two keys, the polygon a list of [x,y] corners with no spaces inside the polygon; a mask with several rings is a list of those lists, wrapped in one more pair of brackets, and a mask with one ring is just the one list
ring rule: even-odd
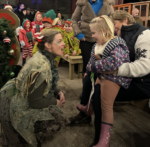
{"label": "decorated Christmas tree with baubles at left edge", "polygon": [[0,88],[14,75],[15,66],[15,30],[11,28],[10,22],[2,18],[0,19]]}

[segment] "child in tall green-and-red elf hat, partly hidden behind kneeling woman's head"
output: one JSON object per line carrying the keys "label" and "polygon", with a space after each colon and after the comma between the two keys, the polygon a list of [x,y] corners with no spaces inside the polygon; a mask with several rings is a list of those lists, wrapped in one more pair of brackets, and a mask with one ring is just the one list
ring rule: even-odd
{"label": "child in tall green-and-red elf hat, partly hidden behind kneeling woman's head", "polygon": [[[56,14],[55,14],[53,9],[49,10],[48,12],[46,12],[43,15],[42,24],[45,28],[42,31],[52,28],[53,19],[55,19],[55,17],[56,17]],[[36,34],[35,34],[35,36],[36,36]],[[33,48],[33,51],[32,51],[33,55],[39,50],[37,45],[38,45],[38,42],[35,42],[35,45],[34,45],[34,48]]]}

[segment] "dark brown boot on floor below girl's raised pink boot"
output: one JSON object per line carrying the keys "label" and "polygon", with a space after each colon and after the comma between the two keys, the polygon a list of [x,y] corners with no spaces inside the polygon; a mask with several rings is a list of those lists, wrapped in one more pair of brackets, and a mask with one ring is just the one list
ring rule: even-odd
{"label": "dark brown boot on floor below girl's raised pink boot", "polygon": [[79,123],[90,123],[92,121],[91,116],[87,116],[86,114],[79,112],[78,115],[68,118],[71,124],[79,124]]}

